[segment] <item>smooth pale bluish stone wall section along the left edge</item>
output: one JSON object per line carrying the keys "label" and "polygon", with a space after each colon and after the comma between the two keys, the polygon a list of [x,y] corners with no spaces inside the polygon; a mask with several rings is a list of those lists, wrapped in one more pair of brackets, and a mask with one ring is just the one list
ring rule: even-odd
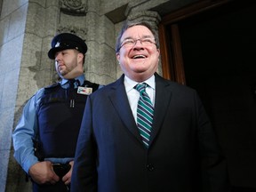
{"label": "smooth pale bluish stone wall section along the left edge", "polygon": [[27,12],[28,0],[19,3],[3,0],[0,18],[0,191],[5,188],[12,143]]}

